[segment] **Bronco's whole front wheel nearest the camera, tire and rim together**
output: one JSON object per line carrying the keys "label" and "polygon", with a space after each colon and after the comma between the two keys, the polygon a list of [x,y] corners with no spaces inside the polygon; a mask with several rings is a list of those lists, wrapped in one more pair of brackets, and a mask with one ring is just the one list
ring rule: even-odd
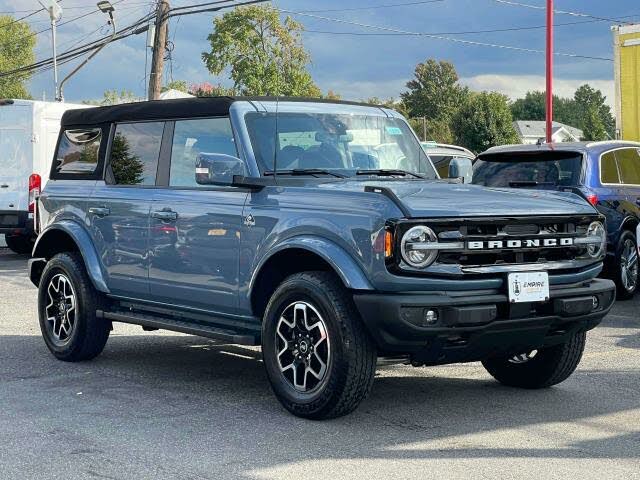
{"label": "Bronco's whole front wheel nearest the camera, tire and rim together", "polygon": [[373,384],[376,349],[340,281],[327,272],[288,277],[264,316],[262,353],[267,376],[294,415],[346,415]]}

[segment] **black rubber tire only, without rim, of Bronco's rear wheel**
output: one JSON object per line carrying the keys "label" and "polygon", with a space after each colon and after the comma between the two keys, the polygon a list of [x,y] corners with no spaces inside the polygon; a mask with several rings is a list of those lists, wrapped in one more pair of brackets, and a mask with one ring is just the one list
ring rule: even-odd
{"label": "black rubber tire only, without rim, of Bronco's rear wheel", "polygon": [[[74,327],[62,344],[56,342],[45,311],[50,302],[47,289],[52,279],[60,274],[69,279],[76,297]],[[59,253],[47,262],[38,287],[38,315],[44,341],[58,360],[79,362],[90,360],[102,352],[111,331],[111,322],[96,317],[96,310],[103,308],[104,301],[91,283],[78,253]]]}

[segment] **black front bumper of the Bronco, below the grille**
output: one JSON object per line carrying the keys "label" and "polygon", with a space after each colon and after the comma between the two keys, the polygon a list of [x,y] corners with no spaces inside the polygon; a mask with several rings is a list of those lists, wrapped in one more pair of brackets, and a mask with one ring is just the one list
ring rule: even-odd
{"label": "black front bumper of the Bronco, below the grille", "polygon": [[[594,279],[552,286],[548,302],[510,304],[493,291],[355,293],[354,302],[382,355],[438,365],[517,354],[594,328],[611,309],[615,285]],[[594,306],[594,297],[597,299]],[[426,310],[438,319],[425,321]]]}

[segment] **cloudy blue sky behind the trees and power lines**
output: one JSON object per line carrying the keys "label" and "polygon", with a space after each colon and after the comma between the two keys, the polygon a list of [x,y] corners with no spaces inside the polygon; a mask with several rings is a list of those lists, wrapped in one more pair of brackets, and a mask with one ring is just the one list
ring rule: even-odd
{"label": "cloudy blue sky behind the trees and power lines", "polygon": [[[171,0],[171,6],[203,1]],[[536,7],[545,4],[543,0],[514,2]],[[513,5],[505,0],[431,0],[429,3],[425,0],[277,0],[271,4],[283,12],[306,13],[293,16],[306,29],[303,41],[312,58],[311,74],[323,91],[333,90],[343,99],[397,98],[405,90],[416,64],[428,58],[452,62],[461,81],[474,90],[495,90],[515,99],[528,90],[544,89],[542,53],[468,43],[544,50],[545,29],[530,28],[545,24],[544,9]],[[61,22],[96,8],[93,0],[63,0],[61,5]],[[37,0],[0,0],[2,12],[37,8]],[[120,0],[115,8],[120,27],[150,12],[153,2]],[[555,0],[555,9],[574,12],[574,15],[559,12],[555,15],[555,51],[595,57],[556,56],[556,93],[571,96],[578,86],[589,83],[602,90],[607,102],[613,105],[610,59],[613,56],[611,25],[615,22],[576,14],[640,22],[640,4],[637,0]],[[25,14],[16,13],[16,16]],[[230,85],[224,75],[212,76],[201,60],[201,53],[208,47],[206,37],[213,28],[214,15],[219,14],[201,13],[171,19],[169,38],[173,51],[172,60],[166,65],[165,79]],[[105,35],[109,32],[105,20],[103,14],[95,13],[62,25],[58,29],[58,51]],[[44,11],[27,21],[36,31],[49,24]],[[464,33],[496,29],[514,30]],[[434,36],[398,34],[401,32]],[[37,35],[37,39],[37,59],[50,57],[50,32]],[[107,89],[125,89],[143,96],[148,82],[145,75],[151,62],[146,43],[146,35],[142,34],[108,45],[67,83],[66,100],[101,98]],[[61,66],[60,76],[64,77],[73,65]],[[34,76],[30,91],[34,98],[52,99],[52,72]]]}

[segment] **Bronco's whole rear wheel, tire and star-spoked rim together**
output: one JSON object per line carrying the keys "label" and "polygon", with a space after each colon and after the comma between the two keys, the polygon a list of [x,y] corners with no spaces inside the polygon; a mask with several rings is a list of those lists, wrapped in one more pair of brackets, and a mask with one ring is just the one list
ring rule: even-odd
{"label": "Bronco's whole rear wheel, tire and star-spoked rim together", "polygon": [[38,287],[42,337],[59,360],[89,360],[102,352],[111,322],[96,317],[99,294],[77,253],[59,253],[47,262]]}

